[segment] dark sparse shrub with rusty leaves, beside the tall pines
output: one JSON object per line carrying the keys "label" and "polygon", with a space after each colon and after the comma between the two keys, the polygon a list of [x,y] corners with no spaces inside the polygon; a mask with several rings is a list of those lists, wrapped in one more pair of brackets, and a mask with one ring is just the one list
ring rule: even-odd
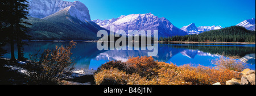
{"label": "dark sparse shrub with rusty leaves, beside the tall pines", "polygon": [[71,59],[71,49],[75,48],[76,42],[71,41],[67,47],[56,46],[55,50],[45,50],[39,58],[31,55],[29,78],[34,84],[57,84],[71,73],[75,63]]}

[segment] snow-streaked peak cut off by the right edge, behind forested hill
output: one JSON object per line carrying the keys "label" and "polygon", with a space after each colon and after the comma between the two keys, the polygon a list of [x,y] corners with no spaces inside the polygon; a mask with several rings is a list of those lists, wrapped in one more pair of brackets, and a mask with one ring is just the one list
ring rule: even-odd
{"label": "snow-streaked peak cut off by the right edge, behind forested hill", "polygon": [[237,24],[237,26],[242,26],[247,30],[255,31],[255,18],[244,20],[243,22]]}

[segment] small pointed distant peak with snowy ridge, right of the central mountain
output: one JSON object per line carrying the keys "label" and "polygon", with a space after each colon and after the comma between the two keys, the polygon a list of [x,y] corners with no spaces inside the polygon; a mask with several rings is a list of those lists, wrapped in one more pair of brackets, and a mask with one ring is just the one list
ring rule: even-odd
{"label": "small pointed distant peak with snowy ridge, right of the central mountain", "polygon": [[187,32],[189,35],[192,34],[200,34],[201,32],[210,31],[210,30],[219,30],[221,26],[200,26],[196,27],[195,23],[189,24],[188,26],[184,26],[180,28],[181,30]]}

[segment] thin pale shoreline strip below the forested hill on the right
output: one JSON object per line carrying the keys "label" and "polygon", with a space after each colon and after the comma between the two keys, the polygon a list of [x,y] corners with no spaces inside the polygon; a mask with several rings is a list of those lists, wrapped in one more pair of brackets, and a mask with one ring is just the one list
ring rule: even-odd
{"label": "thin pale shoreline strip below the forested hill on the right", "polygon": [[250,42],[214,42],[214,41],[208,41],[208,42],[199,42],[199,41],[158,41],[159,43],[190,43],[190,44],[207,44],[207,43],[214,43],[214,44],[255,44]]}

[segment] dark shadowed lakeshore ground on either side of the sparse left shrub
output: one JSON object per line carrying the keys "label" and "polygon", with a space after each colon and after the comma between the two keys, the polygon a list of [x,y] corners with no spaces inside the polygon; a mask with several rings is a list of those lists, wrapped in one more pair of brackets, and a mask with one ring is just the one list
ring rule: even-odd
{"label": "dark shadowed lakeshore ground on either side of the sparse left shrub", "polygon": [[[27,85],[26,78],[29,74],[23,66],[26,62],[18,61],[16,63],[9,62],[9,59],[0,59],[0,85]],[[64,85],[93,85],[94,73],[92,69],[75,69],[71,76],[62,80]]]}

